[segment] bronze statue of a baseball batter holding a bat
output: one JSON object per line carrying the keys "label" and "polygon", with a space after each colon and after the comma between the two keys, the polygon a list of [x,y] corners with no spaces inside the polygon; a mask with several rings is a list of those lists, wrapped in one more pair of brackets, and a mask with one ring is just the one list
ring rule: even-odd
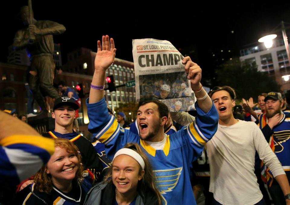
{"label": "bronze statue of a baseball batter holding a bat", "polygon": [[41,110],[47,112],[43,96],[59,98],[57,91],[53,88],[55,69],[53,35],[62,34],[66,28],[53,21],[35,20],[31,1],[28,5],[21,7],[19,13],[21,21],[28,27],[16,32],[13,46],[26,47],[27,53],[30,54],[31,71],[36,72],[37,75],[30,75],[29,86]]}

